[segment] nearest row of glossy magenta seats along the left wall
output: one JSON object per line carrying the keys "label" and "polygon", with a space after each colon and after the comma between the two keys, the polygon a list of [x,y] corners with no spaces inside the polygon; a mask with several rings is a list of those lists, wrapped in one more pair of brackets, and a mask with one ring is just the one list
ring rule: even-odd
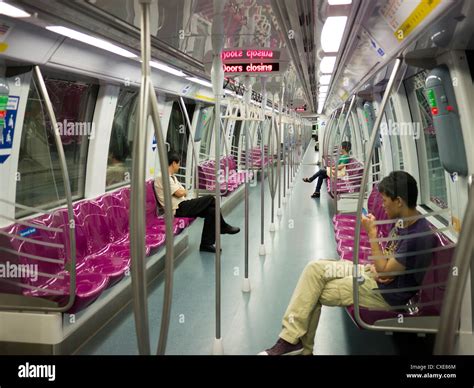
{"label": "nearest row of glossy magenta seats along the left wall", "polygon": [[[129,235],[130,188],[77,202],[74,210],[76,239],[76,294],[69,312],[77,312],[96,300],[107,288],[120,281],[130,268]],[[165,242],[165,222],[157,216],[153,182],[146,183],[146,254]],[[174,234],[193,219],[175,218]],[[42,297],[60,305],[69,299],[69,226],[67,210],[28,220],[30,228],[13,224],[2,231],[0,246],[10,251],[0,262],[37,264],[39,276],[0,283],[0,292]],[[18,238],[29,230],[25,238]],[[19,254],[14,254],[18,252]],[[42,258],[41,260],[35,258]],[[19,284],[21,283],[21,285]]]}

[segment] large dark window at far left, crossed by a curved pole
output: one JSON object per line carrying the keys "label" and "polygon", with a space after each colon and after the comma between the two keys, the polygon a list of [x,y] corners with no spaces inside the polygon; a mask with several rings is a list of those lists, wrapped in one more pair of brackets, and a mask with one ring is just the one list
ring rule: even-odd
{"label": "large dark window at far left, crossed by a curved pole", "polygon": [[[59,79],[45,79],[59,134],[63,143],[73,199],[84,197],[89,139],[95,135],[92,124],[96,85]],[[65,203],[64,183],[51,121],[38,87],[31,81],[20,144],[16,202],[34,207],[53,208]],[[27,215],[17,210],[16,216]]]}

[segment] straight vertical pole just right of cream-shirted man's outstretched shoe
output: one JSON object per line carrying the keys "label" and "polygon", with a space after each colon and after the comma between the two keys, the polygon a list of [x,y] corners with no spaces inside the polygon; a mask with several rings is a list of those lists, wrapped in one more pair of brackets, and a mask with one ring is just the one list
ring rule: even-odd
{"label": "straight vertical pole just right of cream-shirted man's outstretched shoe", "polygon": [[[250,106],[250,99],[252,98],[252,83],[249,76],[245,76],[245,93],[244,93],[244,112],[240,112],[241,117],[243,118],[242,125],[244,126],[244,136],[245,136],[245,171],[246,171],[246,179],[245,179],[245,250],[244,250],[244,266],[245,266],[245,276],[244,281],[242,284],[242,291],[243,292],[250,292],[250,280],[249,280],[249,106]],[[252,179],[256,179],[255,176]]]}

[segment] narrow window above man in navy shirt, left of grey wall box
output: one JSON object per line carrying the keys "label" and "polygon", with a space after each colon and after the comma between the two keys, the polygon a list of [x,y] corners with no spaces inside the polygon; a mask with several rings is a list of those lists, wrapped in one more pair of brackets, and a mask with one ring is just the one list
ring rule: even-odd
{"label": "narrow window above man in navy shirt, left of grey wall box", "polygon": [[[405,82],[408,89],[413,90],[412,103],[410,103],[412,116],[415,113],[419,117],[419,120],[415,119],[416,116],[412,117],[414,121],[413,129],[415,130],[415,138],[419,137],[417,140],[417,146],[423,147],[426,153],[426,160],[424,163],[428,175],[427,182],[429,186],[429,199],[434,205],[444,209],[448,206],[446,178],[439,157],[438,143],[436,141],[436,132],[433,126],[430,105],[423,91],[426,76],[427,72],[422,71],[407,79]],[[414,100],[413,97],[415,98]],[[416,110],[416,112],[413,110]],[[418,135],[417,132],[423,133],[423,137]]]}

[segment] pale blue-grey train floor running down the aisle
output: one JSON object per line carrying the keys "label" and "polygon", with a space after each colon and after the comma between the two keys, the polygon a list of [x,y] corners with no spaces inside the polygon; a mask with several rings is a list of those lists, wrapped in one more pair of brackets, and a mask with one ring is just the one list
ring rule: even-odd
{"label": "pale blue-grey train floor running down the aisle", "polygon": [[[310,145],[302,168],[295,178],[290,200],[282,204],[277,231],[268,232],[270,203],[266,185],[265,245],[266,256],[259,256],[260,185],[250,190],[251,293],[241,291],[244,273],[244,203],[226,220],[242,231],[222,237],[222,339],[225,354],[254,355],[274,344],[281,328],[281,318],[298,277],[308,261],[335,258],[336,246],[327,193],[310,198],[313,184],[302,182],[317,169],[317,154]],[[189,247],[185,258],[175,268],[173,305],[166,354],[211,354],[215,337],[214,255],[199,252],[202,220],[189,228]],[[158,279],[150,289],[149,316],[152,352],[156,352],[163,282]],[[429,354],[432,336],[415,334],[386,335],[360,330],[340,307],[323,307],[316,333],[314,354]],[[131,305],[82,346],[78,354],[138,354],[135,323]]]}

